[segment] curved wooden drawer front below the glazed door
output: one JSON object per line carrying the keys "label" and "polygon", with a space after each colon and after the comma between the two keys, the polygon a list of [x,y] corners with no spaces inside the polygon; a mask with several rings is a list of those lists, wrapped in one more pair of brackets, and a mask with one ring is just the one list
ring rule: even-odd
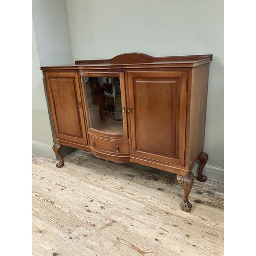
{"label": "curved wooden drawer front below the glazed door", "polygon": [[89,135],[89,142],[92,150],[129,155],[129,141],[106,140]]}

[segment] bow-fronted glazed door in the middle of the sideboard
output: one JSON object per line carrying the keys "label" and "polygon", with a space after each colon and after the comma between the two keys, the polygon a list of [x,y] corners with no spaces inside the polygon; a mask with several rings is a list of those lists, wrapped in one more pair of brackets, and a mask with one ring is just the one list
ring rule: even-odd
{"label": "bow-fronted glazed door in the middle of the sideboard", "polygon": [[80,75],[88,133],[101,137],[127,138],[123,72],[84,72]]}

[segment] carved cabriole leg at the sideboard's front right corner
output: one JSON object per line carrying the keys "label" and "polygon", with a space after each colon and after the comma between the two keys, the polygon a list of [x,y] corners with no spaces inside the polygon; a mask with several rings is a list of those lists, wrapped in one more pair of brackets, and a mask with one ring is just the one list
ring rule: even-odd
{"label": "carved cabriole leg at the sideboard's front right corner", "polygon": [[177,175],[178,182],[183,186],[184,195],[181,209],[187,212],[190,212],[192,204],[188,201],[188,195],[191,191],[191,188],[194,184],[194,174],[190,173],[188,176]]}

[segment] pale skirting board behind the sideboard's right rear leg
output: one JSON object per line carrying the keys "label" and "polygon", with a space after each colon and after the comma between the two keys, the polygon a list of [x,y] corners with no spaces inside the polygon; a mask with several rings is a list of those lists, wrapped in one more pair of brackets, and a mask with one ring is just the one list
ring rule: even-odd
{"label": "pale skirting board behind the sideboard's right rear leg", "polygon": [[[197,163],[192,170],[193,174],[196,177],[198,174],[198,170],[199,164]],[[207,180],[224,183],[224,168],[206,164],[203,169],[203,175],[207,177]]]}

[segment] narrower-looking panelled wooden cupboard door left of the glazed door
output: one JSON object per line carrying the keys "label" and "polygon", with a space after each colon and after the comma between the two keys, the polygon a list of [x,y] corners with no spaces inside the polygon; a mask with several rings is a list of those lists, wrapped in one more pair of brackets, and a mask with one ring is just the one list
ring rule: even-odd
{"label": "narrower-looking panelled wooden cupboard door left of the glazed door", "polygon": [[55,138],[87,144],[77,72],[45,72]]}

